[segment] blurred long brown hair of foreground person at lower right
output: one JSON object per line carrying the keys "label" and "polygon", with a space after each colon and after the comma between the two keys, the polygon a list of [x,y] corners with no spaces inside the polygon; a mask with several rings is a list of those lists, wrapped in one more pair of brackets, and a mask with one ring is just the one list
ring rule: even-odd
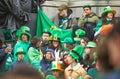
{"label": "blurred long brown hair of foreground person at lower right", "polygon": [[113,65],[109,62],[109,50],[107,45],[107,40],[105,40],[97,49],[97,61],[101,65],[101,71],[109,72],[113,70]]}

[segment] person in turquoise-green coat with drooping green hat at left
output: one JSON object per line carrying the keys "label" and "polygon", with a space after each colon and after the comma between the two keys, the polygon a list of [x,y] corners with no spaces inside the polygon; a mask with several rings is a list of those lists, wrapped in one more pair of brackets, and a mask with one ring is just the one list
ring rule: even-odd
{"label": "person in turquoise-green coat with drooping green hat at left", "polygon": [[27,32],[22,32],[20,35],[20,41],[18,41],[14,46],[14,61],[17,60],[16,51],[17,48],[22,47],[25,51],[24,60],[28,61],[28,47],[30,45],[31,35]]}

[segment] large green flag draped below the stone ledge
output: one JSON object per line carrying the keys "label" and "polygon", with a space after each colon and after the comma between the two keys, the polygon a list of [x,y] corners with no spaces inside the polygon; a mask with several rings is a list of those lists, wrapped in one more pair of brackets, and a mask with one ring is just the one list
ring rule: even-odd
{"label": "large green flag draped below the stone ledge", "polygon": [[65,37],[72,37],[72,30],[62,30],[58,28],[38,7],[38,17],[37,17],[37,32],[38,37],[42,36],[44,30],[49,30],[52,32],[53,29],[59,29],[62,32],[61,40],[64,40]]}

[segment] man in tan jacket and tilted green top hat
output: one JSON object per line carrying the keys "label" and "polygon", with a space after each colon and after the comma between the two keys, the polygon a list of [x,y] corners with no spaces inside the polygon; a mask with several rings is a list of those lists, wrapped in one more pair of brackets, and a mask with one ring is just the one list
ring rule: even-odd
{"label": "man in tan jacket and tilted green top hat", "polygon": [[72,52],[68,52],[67,60],[70,65],[65,69],[65,79],[78,79],[79,76],[84,77],[86,75],[86,71],[78,63],[78,58],[82,51],[81,45],[78,45]]}

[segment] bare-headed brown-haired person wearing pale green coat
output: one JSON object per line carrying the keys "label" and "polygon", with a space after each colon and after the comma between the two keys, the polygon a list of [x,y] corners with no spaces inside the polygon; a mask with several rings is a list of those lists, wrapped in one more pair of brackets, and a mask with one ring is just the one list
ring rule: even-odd
{"label": "bare-headed brown-haired person wearing pale green coat", "polygon": [[39,50],[40,45],[41,39],[37,36],[34,36],[28,49],[29,62],[37,69],[40,69],[40,60],[42,59],[42,53]]}

